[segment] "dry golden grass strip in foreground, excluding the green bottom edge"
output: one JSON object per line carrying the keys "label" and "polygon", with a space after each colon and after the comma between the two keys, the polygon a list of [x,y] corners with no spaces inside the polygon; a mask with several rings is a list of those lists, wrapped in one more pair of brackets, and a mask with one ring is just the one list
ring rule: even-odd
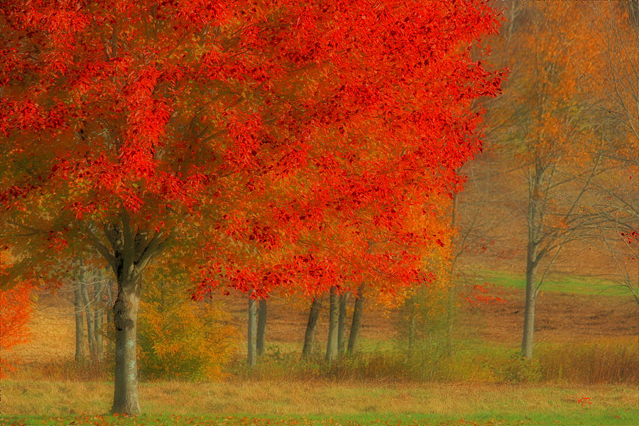
{"label": "dry golden grass strip in foreground, excluding the green bottom edge", "polygon": [[[94,382],[6,381],[4,415],[107,413],[112,385]],[[359,415],[363,413],[566,413],[587,397],[597,409],[636,407],[627,386],[515,386],[326,381],[156,382],[141,385],[145,413],[195,415]]]}

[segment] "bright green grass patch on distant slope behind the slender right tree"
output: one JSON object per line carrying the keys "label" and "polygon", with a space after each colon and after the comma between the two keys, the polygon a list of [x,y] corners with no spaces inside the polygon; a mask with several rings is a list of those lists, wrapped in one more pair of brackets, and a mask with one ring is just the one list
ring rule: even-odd
{"label": "bright green grass patch on distant slope behind the slender right tree", "polygon": [[[525,290],[526,280],[523,273],[483,270],[479,271],[471,283],[483,285],[497,285],[510,287],[517,290]],[[609,280],[591,277],[579,277],[575,275],[554,274],[545,278],[540,290],[552,293],[569,293],[577,295],[604,295],[604,296],[628,296],[630,290],[620,285],[615,285]]]}

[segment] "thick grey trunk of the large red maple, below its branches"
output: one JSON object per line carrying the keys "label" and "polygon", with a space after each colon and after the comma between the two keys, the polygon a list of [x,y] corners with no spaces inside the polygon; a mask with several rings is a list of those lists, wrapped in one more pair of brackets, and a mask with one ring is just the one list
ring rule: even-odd
{"label": "thick grey trunk of the large red maple, below its branches", "polygon": [[113,306],[115,324],[115,389],[111,413],[138,415],[137,328],[141,283],[119,277],[118,295]]}

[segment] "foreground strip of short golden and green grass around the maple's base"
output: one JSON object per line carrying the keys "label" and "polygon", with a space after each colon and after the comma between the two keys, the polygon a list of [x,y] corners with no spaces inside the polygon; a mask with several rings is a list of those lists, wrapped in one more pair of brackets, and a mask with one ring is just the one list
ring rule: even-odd
{"label": "foreground strip of short golden and green grass around the maple's base", "polygon": [[[145,415],[135,419],[104,415],[111,392],[111,383],[4,381],[1,421],[6,425],[74,421],[89,425],[635,425],[637,420],[637,391],[630,386],[143,383]],[[581,403],[580,398],[589,398],[589,403]]]}

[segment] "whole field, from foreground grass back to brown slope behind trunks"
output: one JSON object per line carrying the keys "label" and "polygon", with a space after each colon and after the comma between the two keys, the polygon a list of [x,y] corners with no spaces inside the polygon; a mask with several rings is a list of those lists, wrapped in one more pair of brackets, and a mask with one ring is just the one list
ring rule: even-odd
{"label": "whole field, from foreground grass back to brown slope behind trunks", "polygon": [[[581,278],[549,281],[537,305],[535,360],[523,363],[523,281],[488,275],[478,283],[487,281],[503,302],[460,302],[452,355],[442,356],[439,336],[407,356],[393,315],[369,307],[359,355],[331,366],[322,362],[325,318],[317,357],[300,362],[307,306],[275,298],[266,354],[249,372],[241,341],[246,300],[229,297],[239,342],[227,378],[143,381],[144,414],[135,418],[106,414],[110,371],[77,368],[72,304],[42,295],[31,342],[11,354],[24,364],[1,382],[0,424],[638,425],[639,319],[630,299],[596,297],[599,290]],[[472,283],[460,291],[473,291]]]}

